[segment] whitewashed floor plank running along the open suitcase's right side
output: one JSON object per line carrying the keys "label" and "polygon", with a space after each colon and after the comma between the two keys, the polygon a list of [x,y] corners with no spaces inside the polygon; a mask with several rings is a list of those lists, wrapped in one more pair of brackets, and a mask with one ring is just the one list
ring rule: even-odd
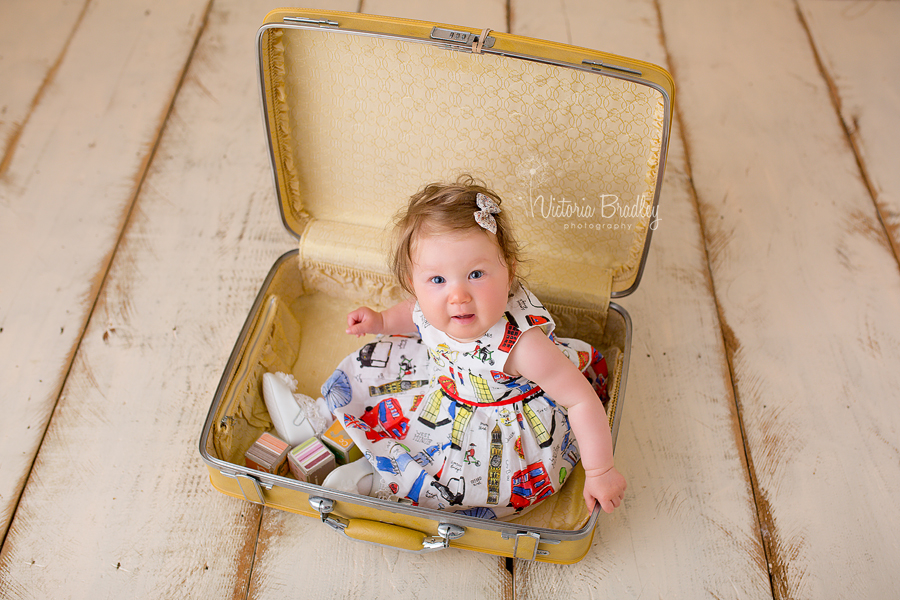
{"label": "whitewashed floor plank running along the open suitcase's right side", "polygon": [[[514,33],[665,65],[653,2],[512,9]],[[616,446],[624,506],[583,563],[517,563],[519,597],[771,597],[681,137],[676,123],[646,271],[621,302],[634,323]]]}

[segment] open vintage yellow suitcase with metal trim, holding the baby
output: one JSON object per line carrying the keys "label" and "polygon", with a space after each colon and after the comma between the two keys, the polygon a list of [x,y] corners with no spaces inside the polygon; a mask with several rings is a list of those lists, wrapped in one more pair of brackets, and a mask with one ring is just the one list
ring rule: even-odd
{"label": "open vintage yellow suitcase with metal trim, holding the baby", "polygon": [[580,560],[602,514],[584,507],[580,465],[537,508],[496,521],[253,470],[244,453],[272,430],[263,373],[292,373],[300,392],[319,395],[367,341],[343,333],[347,312],[402,298],[384,258],[391,217],[425,183],[462,172],[513,213],[526,279],[557,332],[607,357],[615,441],[631,320],[611,298],[637,287],[660,222],[671,77],[490,29],[321,10],[271,12],[257,44],[275,189],[298,248],[266,278],[204,423],[213,486],[404,550]]}

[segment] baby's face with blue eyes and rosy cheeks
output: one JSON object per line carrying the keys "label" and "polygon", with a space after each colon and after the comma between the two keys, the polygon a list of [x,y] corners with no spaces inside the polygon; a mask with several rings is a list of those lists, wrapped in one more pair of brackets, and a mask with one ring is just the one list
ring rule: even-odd
{"label": "baby's face with blue eyes and rosy cheeks", "polygon": [[503,316],[511,278],[493,235],[424,234],[412,255],[412,287],[428,322],[470,342]]}

